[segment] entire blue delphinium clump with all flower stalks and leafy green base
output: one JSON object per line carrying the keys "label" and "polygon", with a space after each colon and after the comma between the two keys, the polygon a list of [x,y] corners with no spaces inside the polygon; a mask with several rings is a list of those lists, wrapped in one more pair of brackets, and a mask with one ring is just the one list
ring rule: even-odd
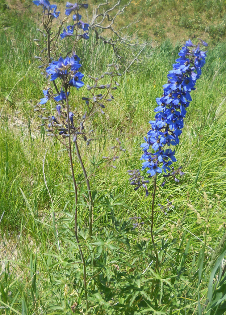
{"label": "entire blue delphinium clump with all flower stalks and leafy green base", "polygon": [[[87,85],[87,95],[82,98],[84,106],[81,109],[84,112],[81,117],[77,116],[71,102],[71,92],[72,89],[78,90],[84,85],[84,75],[80,72],[82,60],[77,56],[76,50],[79,41],[81,43],[89,39],[89,25],[83,22],[80,15],[81,9],[86,9],[88,5],[81,2],[67,3],[66,17],[57,23],[60,13],[55,5],[47,0],[34,1],[34,4],[43,8],[43,30],[40,30],[41,38],[35,39],[35,42],[40,50],[40,55],[36,58],[42,62],[39,68],[47,80],[43,90],[44,97],[35,106],[35,111],[42,120],[42,133],[45,130],[47,136],[59,141],[68,152],[73,185],[70,193],[73,194],[74,210],[64,211],[57,221],[59,233],[56,235],[56,243],[58,242],[59,251],[58,254],[47,254],[49,267],[45,285],[48,292],[45,300],[43,298],[40,302],[42,308],[52,314],[135,315],[171,314],[178,309],[182,309],[183,313],[184,308],[181,305],[186,305],[187,313],[190,310],[194,313],[196,306],[193,305],[192,298],[197,292],[200,297],[196,287],[199,290],[201,276],[198,274],[197,279],[185,274],[184,262],[189,242],[185,252],[181,249],[186,232],[179,249],[174,240],[168,243],[162,240],[161,248],[157,248],[153,225],[157,175],[165,173],[162,186],[169,178],[178,181],[176,176],[183,175],[181,168],[174,170],[171,167],[176,158],[175,151],[170,146],[179,143],[186,109],[191,101],[190,92],[195,89],[196,80],[205,63],[206,55],[200,50],[200,44],[207,44],[200,41],[198,45],[194,45],[189,40],[180,51],[177,63],[168,74],[169,81],[164,86],[163,96],[157,99],[157,114],[155,120],[150,121],[152,128],[145,138],[146,142],[142,144],[142,160],[145,160],[142,170],[147,169],[153,180],[151,227],[147,227],[140,216],[118,220],[114,212],[115,206],[126,205],[120,196],[105,194],[99,198],[99,202],[105,211],[103,213],[111,214],[111,220],[99,228],[94,224],[99,217],[93,218],[97,197],[90,183],[90,178],[95,173],[87,172],[81,149],[83,150],[84,144],[92,145],[92,118],[98,113],[104,115],[104,108],[114,100],[112,91],[119,86],[116,81],[116,77],[120,76],[118,67],[110,64],[108,72],[98,77],[89,75],[92,84]],[[71,18],[73,23],[64,26]],[[51,102],[51,111],[43,107],[47,102]],[[119,159],[119,152],[123,150],[117,138],[116,145],[110,148],[112,153],[102,156],[96,172],[108,166],[116,168],[113,163]],[[75,161],[80,166],[83,178],[76,177],[78,173],[76,170],[75,174]],[[148,195],[149,180],[139,170],[129,173],[135,190],[143,187]],[[83,182],[86,184],[85,190],[79,187]],[[79,212],[84,204],[89,208],[87,219]],[[166,207],[160,207],[160,211],[165,213],[173,206],[168,201]],[[203,257],[204,250],[197,262],[199,270]],[[152,268],[153,262],[155,268]],[[35,288],[36,294],[33,290],[32,297],[34,305],[37,305],[36,299],[40,296],[37,293],[38,287],[34,285],[36,276],[34,279],[32,290]],[[190,289],[192,283],[195,291]],[[211,297],[214,294],[215,289],[212,290]],[[192,302],[183,304],[184,296],[185,300],[187,298]],[[198,302],[200,306],[200,300]]]}

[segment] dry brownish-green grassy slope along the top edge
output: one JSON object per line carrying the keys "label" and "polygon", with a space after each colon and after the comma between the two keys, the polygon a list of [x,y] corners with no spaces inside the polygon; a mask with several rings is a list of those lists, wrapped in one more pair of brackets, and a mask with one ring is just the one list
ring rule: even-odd
{"label": "dry brownish-green grassy slope along the top edge", "polygon": [[[60,10],[64,11],[62,0],[56,0]],[[88,15],[91,17],[93,6],[100,0],[89,1]],[[126,4],[122,1],[122,5]],[[2,20],[4,28],[12,28],[12,18],[35,16],[38,12],[30,0],[1,0]],[[106,6],[107,8],[107,6]],[[112,14],[114,11],[112,12]],[[166,39],[174,44],[178,40],[201,37],[208,43],[216,44],[226,36],[226,4],[222,0],[132,0],[125,14],[117,20],[120,29],[137,21],[127,31],[133,38],[137,36],[156,45]]]}

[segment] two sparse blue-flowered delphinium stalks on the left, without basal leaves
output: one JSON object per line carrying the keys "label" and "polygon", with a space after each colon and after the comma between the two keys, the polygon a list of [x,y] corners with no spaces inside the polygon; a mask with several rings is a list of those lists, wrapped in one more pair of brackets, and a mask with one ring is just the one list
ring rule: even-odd
{"label": "two sparse blue-flowered delphinium stalks on the left, without basal leaves", "polygon": [[[57,20],[60,15],[60,12],[57,11],[57,6],[51,5],[48,0],[35,0],[33,3],[43,8],[43,30],[39,30],[42,37],[41,39],[34,39],[34,41],[40,51],[40,55],[35,58],[42,62],[39,68],[41,68],[42,71],[44,69],[45,72],[42,72],[42,74],[47,80],[46,89],[43,90],[44,98],[42,98],[39,104],[35,106],[35,112],[39,113],[39,118],[42,120],[41,127],[45,128],[47,136],[57,139],[64,147],[66,147],[68,152],[75,196],[74,233],[83,264],[84,295],[86,308],[88,309],[86,262],[78,237],[78,183],[75,179],[73,159],[76,156],[87,186],[88,198],[85,199],[89,204],[88,230],[89,236],[91,237],[93,234],[93,197],[89,179],[90,176],[94,174],[87,175],[87,170],[81,157],[79,143],[82,141],[88,146],[93,140],[91,119],[97,113],[104,115],[103,109],[106,104],[114,99],[114,96],[111,94],[112,91],[116,90],[117,86],[119,86],[116,77],[121,76],[121,74],[118,73],[118,66],[116,64],[110,64],[108,65],[109,71],[104,72],[99,77],[89,75],[93,84],[92,86],[87,85],[89,95],[82,98],[85,102],[86,110],[82,117],[77,118],[74,113],[75,109],[70,105],[70,93],[71,89],[76,88],[78,90],[84,85],[81,81],[84,74],[79,71],[81,67],[80,58],[76,55],[75,51],[78,41],[89,39],[89,25],[82,21],[82,16],[80,15],[81,9],[87,9],[88,4],[81,3],[80,1],[75,4],[67,3],[65,10],[66,17],[59,23],[57,29],[55,20]],[[65,29],[63,28],[63,25],[66,23],[69,16],[72,16],[73,24],[68,25]],[[69,51],[67,51],[63,57],[59,52],[59,45],[62,45],[61,43],[59,44],[59,41],[65,41],[67,39],[70,42],[67,44],[65,43],[65,46],[69,47]],[[107,83],[103,84],[103,79],[105,82],[107,81]],[[44,113],[46,114],[48,111],[43,105],[49,101],[54,104],[54,109],[51,114],[46,117]],[[116,166],[112,164],[119,159],[119,151],[125,151],[125,149],[122,148],[121,142],[117,138],[116,145],[111,147],[109,156],[102,157],[99,170],[107,166],[116,169]]]}

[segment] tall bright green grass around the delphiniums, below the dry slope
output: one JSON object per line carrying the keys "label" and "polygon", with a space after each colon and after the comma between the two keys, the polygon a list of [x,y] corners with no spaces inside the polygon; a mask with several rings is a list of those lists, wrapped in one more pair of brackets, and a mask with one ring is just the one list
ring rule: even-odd
{"label": "tall bright green grass around the delphiniums, below the dry slope", "polygon": [[[194,3],[198,5],[197,1]],[[0,35],[0,58],[5,60],[0,68],[0,110],[3,108],[0,120],[0,217],[4,213],[0,223],[0,280],[4,284],[5,296],[1,290],[0,299],[5,303],[2,303],[3,307],[9,305],[3,308],[4,314],[25,314],[26,309],[33,313],[31,283],[37,268],[40,298],[35,313],[39,314],[43,308],[50,312],[52,291],[49,288],[50,282],[55,281],[50,279],[49,282],[48,278],[53,263],[51,253],[58,251],[52,211],[56,212],[57,224],[67,212],[73,213],[70,169],[67,154],[59,143],[40,134],[40,120],[33,112],[44,85],[36,67],[38,62],[33,59],[36,50],[32,38],[38,36],[36,26],[31,19],[25,18],[23,22],[18,21],[17,31],[12,27],[1,31]],[[127,170],[141,167],[140,144],[149,130],[148,121],[154,117],[155,98],[162,94],[162,85],[166,83],[166,75],[179,47],[179,42],[174,45],[169,40],[155,48],[147,46],[142,61],[133,64],[121,77],[120,88],[114,94],[115,101],[108,106],[105,116],[95,117],[91,122],[95,140],[82,149],[88,169],[94,169],[101,157],[108,154],[116,137],[126,148],[116,164],[117,170],[101,171],[91,179],[98,196],[94,218],[100,216],[96,221],[99,228],[110,220],[109,209],[101,203],[104,197],[116,203],[118,218],[141,216],[145,226],[151,222],[151,196],[146,198],[143,192],[134,192],[128,184]],[[167,215],[156,212],[155,230],[160,229],[156,237],[159,241],[177,239],[179,242],[187,229],[186,238],[191,236],[192,245],[190,259],[200,252],[206,237],[205,258],[208,261],[225,231],[225,48],[223,40],[209,48],[197,90],[192,92],[180,145],[176,149],[177,166],[182,166],[185,176],[179,183],[169,182],[157,191],[156,209],[159,209],[158,203],[166,204],[166,199],[173,199],[175,208]],[[86,58],[83,66],[86,84],[90,71],[96,75],[105,71],[108,63],[117,61],[107,46],[97,46],[93,40],[81,54]],[[124,72],[127,65],[121,63],[120,67]],[[78,115],[84,112],[81,96],[86,96],[85,88],[71,95],[72,107],[77,108]],[[51,105],[47,106],[50,114]],[[47,147],[44,169],[53,205],[42,170]],[[80,178],[81,170],[76,160],[74,164],[76,177]],[[117,198],[124,204],[117,205]],[[86,222],[87,207],[80,206],[80,212],[80,220]],[[62,255],[67,256],[63,236],[61,246]]]}

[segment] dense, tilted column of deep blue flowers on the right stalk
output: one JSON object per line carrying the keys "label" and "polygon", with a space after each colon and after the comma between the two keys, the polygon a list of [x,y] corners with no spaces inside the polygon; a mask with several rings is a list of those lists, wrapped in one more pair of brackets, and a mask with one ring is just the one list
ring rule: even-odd
{"label": "dense, tilted column of deep blue flowers on the right stalk", "polygon": [[[200,40],[201,44],[207,44]],[[163,86],[163,95],[157,98],[158,106],[155,120],[151,120],[151,129],[141,145],[145,160],[142,170],[148,169],[149,177],[164,171],[170,171],[170,166],[176,162],[175,151],[167,148],[179,143],[182,133],[186,108],[191,102],[190,92],[195,90],[195,83],[201,75],[201,67],[205,64],[206,52],[200,50],[200,43],[194,45],[190,40],[179,52],[179,58],[169,71],[168,83]],[[152,148],[155,152],[150,152]]]}

